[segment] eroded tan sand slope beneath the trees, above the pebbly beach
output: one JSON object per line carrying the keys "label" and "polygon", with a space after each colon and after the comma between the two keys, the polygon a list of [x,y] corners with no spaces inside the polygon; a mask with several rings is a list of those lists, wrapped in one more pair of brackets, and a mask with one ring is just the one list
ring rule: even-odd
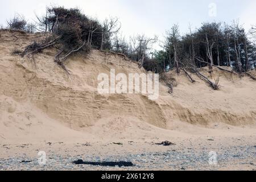
{"label": "eroded tan sand slope beneath the trees, above the pebbly beach", "polygon": [[[92,51],[70,57],[67,75],[53,63],[56,49],[29,57],[13,55],[40,34],[0,32],[0,141],[143,139],[192,135],[255,134],[256,81],[214,69],[221,89],[200,78],[176,76],[174,94],[160,85],[156,101],[142,94],[99,94],[97,76],[142,73],[137,63]],[[209,76],[207,68],[202,72]],[[255,72],[252,72],[254,74]]]}

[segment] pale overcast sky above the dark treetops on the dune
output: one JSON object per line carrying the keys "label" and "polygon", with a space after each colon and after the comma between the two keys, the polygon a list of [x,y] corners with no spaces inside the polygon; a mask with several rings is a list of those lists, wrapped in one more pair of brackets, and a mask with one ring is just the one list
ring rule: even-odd
{"label": "pale overcast sky above the dark treetops on the dune", "polygon": [[79,7],[86,15],[104,20],[117,16],[122,32],[130,35],[163,36],[172,24],[179,23],[181,33],[200,27],[202,22],[227,22],[240,19],[246,30],[256,24],[255,0],[0,0],[0,25],[15,13],[28,20],[43,14],[47,5]]}

